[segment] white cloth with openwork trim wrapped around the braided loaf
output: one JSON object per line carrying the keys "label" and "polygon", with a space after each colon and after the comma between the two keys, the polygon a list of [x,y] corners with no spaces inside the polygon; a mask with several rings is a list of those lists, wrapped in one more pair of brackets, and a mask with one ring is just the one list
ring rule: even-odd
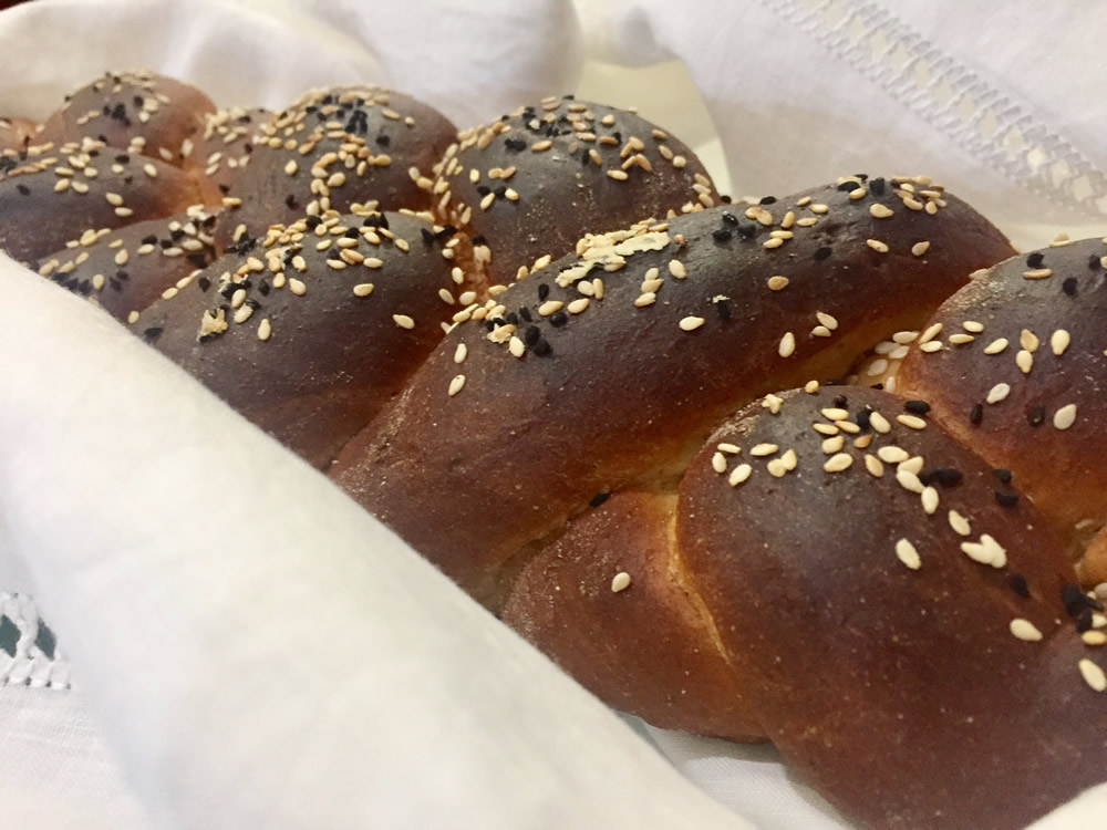
{"label": "white cloth with openwork trim wrapped around the braided loaf", "polygon": [[[578,29],[567,0],[40,0],[0,13],[0,112],[41,117],[108,64],[151,65],[224,104],[377,80],[464,125],[572,89],[583,37],[602,61],[686,63],[738,195],[924,170],[1023,245],[1101,236],[1107,103],[1090,91],[1107,81],[1107,19],[1074,18],[1077,0],[986,6],[581,0]],[[646,114],[696,94],[655,93],[637,102]],[[317,476],[12,269],[0,263],[0,827],[845,827],[770,748],[648,730],[732,813],[697,798]],[[121,412],[123,393],[151,415]],[[265,521],[166,512],[189,492],[235,492]],[[1105,813],[1098,788],[1039,826]]]}

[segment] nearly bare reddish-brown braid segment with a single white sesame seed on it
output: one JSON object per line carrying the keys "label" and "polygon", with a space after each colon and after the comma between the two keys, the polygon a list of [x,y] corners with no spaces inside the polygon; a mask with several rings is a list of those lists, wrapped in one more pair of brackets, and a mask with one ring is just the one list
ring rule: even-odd
{"label": "nearly bare reddish-brown braid segment with a single white sesame seed on it", "polygon": [[763,740],[686,593],[675,507],[673,488],[624,490],[580,516],[523,568],[504,621],[609,706],[665,729]]}

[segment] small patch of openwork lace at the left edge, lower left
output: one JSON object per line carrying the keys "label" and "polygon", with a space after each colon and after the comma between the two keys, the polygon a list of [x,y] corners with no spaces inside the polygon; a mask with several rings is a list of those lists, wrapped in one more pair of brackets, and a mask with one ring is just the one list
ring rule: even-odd
{"label": "small patch of openwork lace at the left edge, lower left", "polygon": [[69,660],[27,594],[0,592],[0,687],[70,688]]}

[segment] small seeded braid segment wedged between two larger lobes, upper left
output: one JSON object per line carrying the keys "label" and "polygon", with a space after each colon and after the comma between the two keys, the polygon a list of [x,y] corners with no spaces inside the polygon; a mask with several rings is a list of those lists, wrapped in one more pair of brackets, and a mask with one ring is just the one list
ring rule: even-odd
{"label": "small seeded braid segment wedged between two larger lobes, upper left", "polygon": [[254,153],[254,136],[273,114],[260,107],[241,106],[204,116],[204,128],[180,146],[184,168],[196,176],[205,197],[219,204],[230,193]]}

